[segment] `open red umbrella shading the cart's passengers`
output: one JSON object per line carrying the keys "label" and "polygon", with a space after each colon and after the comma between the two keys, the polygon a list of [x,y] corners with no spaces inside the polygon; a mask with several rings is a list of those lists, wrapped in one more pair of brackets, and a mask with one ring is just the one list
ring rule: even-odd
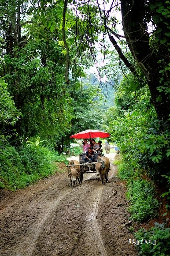
{"label": "open red umbrella shading the cart's passengers", "polygon": [[78,132],[74,135],[71,135],[70,138],[92,139],[92,138],[106,138],[109,136],[110,136],[110,134],[107,132],[102,132],[102,131],[98,131],[98,130],[86,130],[86,131]]}

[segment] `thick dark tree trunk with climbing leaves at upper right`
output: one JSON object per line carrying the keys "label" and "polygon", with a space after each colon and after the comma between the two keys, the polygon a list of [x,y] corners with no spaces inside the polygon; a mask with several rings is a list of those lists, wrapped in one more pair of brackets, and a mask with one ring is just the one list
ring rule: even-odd
{"label": "thick dark tree trunk with climbing leaves at upper right", "polygon": [[[170,114],[170,1],[121,0],[121,11],[129,49],[145,75],[159,119],[166,121]],[[152,33],[149,22],[155,27]]]}

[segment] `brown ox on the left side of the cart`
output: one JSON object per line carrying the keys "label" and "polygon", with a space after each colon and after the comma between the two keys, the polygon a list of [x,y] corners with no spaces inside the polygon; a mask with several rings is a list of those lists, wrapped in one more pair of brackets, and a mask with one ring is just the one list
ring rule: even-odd
{"label": "brown ox on the left side of the cart", "polygon": [[68,168],[68,177],[70,177],[70,187],[72,187],[72,182],[74,185],[80,184],[80,166],[74,166],[79,164],[76,160],[71,160],[69,165],[72,165]]}

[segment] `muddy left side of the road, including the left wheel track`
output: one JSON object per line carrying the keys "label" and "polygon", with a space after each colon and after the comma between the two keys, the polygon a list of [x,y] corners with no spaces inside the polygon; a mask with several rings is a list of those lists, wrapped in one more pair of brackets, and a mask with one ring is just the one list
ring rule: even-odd
{"label": "muddy left side of the road, including the left wheel track", "polygon": [[[65,177],[67,177],[65,173],[59,175],[59,178],[55,175],[49,180],[40,181],[41,186],[39,183],[31,185],[23,195],[19,195],[2,209],[0,248],[3,248],[4,252],[2,253],[0,249],[0,255],[30,255],[24,250],[27,246],[33,245],[38,235],[37,231],[41,232],[45,219],[56,204],[70,192],[69,181]],[[15,236],[16,233],[19,235]]]}

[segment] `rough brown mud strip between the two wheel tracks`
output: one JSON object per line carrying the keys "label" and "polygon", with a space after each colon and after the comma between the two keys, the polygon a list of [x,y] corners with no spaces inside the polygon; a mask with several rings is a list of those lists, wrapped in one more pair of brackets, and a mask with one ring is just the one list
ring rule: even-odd
{"label": "rough brown mud strip between the two wheel tracks", "polygon": [[94,255],[100,255],[97,235],[89,218],[100,191],[96,182],[85,181],[77,188],[70,189],[70,194],[63,198],[44,222],[32,255],[88,256],[94,252]]}

